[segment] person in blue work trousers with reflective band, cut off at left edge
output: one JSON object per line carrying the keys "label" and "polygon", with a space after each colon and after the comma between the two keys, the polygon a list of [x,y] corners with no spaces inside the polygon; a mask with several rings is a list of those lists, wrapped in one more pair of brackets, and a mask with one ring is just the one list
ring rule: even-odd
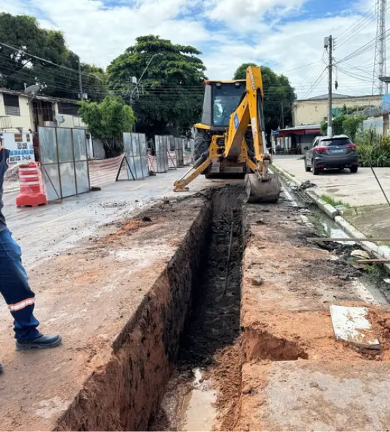
{"label": "person in blue work trousers with reflective band, cut off at left edge", "polygon": [[[10,152],[3,148],[0,136],[0,293],[8,304],[14,318],[16,349],[54,348],[61,344],[59,334],[42,334],[33,316],[35,294],[31,291],[29,280],[22,265],[22,250],[13,240],[3,216],[3,181],[8,169]],[[3,368],[0,364],[0,373]]]}

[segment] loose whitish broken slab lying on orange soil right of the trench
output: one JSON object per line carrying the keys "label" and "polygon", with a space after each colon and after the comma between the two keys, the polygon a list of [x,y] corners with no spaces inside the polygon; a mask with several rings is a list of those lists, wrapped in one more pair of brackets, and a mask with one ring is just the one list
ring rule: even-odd
{"label": "loose whitish broken slab lying on orange soil right of the trench", "polygon": [[380,342],[375,337],[370,321],[368,321],[366,307],[332,305],[330,314],[336,339],[359,348],[380,350]]}

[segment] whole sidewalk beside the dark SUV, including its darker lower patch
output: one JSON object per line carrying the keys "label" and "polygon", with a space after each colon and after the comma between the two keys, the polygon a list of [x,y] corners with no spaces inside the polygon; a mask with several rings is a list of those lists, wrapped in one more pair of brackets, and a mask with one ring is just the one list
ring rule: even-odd
{"label": "whole sidewalk beside the dark SUV, including its darker lower patch", "polygon": [[[314,176],[306,173],[304,161],[297,156],[275,157],[274,164],[301,182],[310,180],[317,185],[311,190],[318,196],[327,195],[335,204],[342,201],[349,205],[343,217],[366,236],[390,238],[390,208],[370,168],[359,167],[356,174],[345,169]],[[375,173],[390,197],[390,168],[375,168]]]}

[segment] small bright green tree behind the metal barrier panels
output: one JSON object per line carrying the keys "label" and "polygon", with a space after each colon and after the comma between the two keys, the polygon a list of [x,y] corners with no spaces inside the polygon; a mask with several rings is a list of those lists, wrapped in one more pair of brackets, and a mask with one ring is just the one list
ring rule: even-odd
{"label": "small bright green tree behind the metal barrier panels", "polygon": [[80,102],[79,115],[94,138],[101,139],[106,157],[123,153],[123,132],[131,132],[135,122],[131,107],[120,96],[108,95],[103,102]]}

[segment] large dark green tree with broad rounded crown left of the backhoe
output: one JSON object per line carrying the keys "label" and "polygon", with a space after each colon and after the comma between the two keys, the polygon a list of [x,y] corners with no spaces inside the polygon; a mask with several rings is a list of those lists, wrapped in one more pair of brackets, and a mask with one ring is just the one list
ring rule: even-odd
{"label": "large dark green tree with broad rounded crown left of the backhoe", "polygon": [[[194,47],[173,45],[159,36],[141,36],[109,65],[109,88],[132,105],[137,130],[186,133],[199,120],[205,79],[199,54]],[[144,71],[135,88],[132,77],[140,79]]]}

